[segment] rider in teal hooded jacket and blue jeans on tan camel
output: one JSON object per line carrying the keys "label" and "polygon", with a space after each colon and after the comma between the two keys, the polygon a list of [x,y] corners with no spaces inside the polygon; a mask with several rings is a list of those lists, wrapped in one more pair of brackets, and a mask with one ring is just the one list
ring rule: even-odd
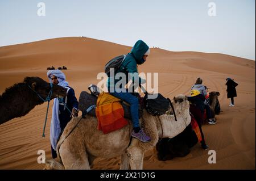
{"label": "rider in teal hooded jacket and blue jeans on tan camel", "polygon": [[[125,60],[123,60],[121,66],[114,74],[116,75],[117,73],[125,73],[125,85],[129,81],[131,81],[131,79],[134,86],[139,86],[142,83],[146,83],[144,79],[139,77],[137,65],[143,64],[146,61],[149,53],[150,48],[148,47],[148,45],[144,43],[144,41],[138,40],[131,49],[131,52],[126,54]],[[133,76],[129,76],[129,74],[132,74]],[[138,98],[137,96],[131,94],[131,92],[128,92],[127,89],[123,87],[124,84],[116,86],[119,80],[120,79],[115,79],[114,77],[108,78],[107,85],[109,92],[111,95],[130,104],[131,120],[133,122],[133,132],[131,133],[131,136],[138,138],[138,140],[141,140],[142,142],[148,142],[151,140],[151,138],[147,136],[146,133],[144,133],[143,129],[141,129],[141,127],[139,126]]]}

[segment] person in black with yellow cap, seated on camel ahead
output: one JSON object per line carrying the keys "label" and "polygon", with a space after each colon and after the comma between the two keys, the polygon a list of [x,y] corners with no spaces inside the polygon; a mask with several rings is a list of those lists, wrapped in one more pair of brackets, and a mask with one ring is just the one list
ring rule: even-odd
{"label": "person in black with yellow cap, seated on camel ahead", "polygon": [[191,105],[189,105],[189,111],[193,114],[197,124],[199,125],[200,133],[202,136],[201,146],[203,149],[207,150],[209,146],[205,143],[204,133],[202,130],[202,123],[204,121],[205,96],[200,94],[199,90],[191,90],[191,96],[188,96],[187,98],[191,103]]}

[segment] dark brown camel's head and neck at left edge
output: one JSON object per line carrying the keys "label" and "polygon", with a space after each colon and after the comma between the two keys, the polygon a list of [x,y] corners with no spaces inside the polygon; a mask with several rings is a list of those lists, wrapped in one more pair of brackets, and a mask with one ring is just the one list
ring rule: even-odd
{"label": "dark brown camel's head and neck at left edge", "polygon": [[[36,95],[36,92],[45,99],[50,90],[50,83],[39,77],[26,77],[23,82],[15,83],[15,85],[7,88],[0,95],[0,124],[15,117],[22,117],[36,105],[43,104],[43,100]],[[64,97],[65,95],[66,89],[53,85],[50,99]]]}

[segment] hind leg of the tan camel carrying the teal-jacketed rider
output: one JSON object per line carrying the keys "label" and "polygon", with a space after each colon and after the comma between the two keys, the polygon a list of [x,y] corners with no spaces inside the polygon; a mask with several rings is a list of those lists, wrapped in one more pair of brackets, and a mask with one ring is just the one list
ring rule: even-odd
{"label": "hind leg of the tan camel carrying the teal-jacketed rider", "polygon": [[[65,169],[68,170],[89,170],[88,154],[86,153],[85,146],[79,146],[65,140],[60,146],[60,157]],[[79,151],[77,151],[79,150]]]}

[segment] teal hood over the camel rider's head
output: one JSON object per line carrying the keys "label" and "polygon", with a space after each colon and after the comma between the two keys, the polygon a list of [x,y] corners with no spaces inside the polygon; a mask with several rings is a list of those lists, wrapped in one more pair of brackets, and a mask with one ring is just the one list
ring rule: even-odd
{"label": "teal hood over the camel rider's head", "polygon": [[143,59],[143,55],[147,52],[148,48],[148,45],[142,40],[138,40],[135,43],[135,45],[131,49],[131,54],[133,54],[137,64],[141,65],[145,62]]}

